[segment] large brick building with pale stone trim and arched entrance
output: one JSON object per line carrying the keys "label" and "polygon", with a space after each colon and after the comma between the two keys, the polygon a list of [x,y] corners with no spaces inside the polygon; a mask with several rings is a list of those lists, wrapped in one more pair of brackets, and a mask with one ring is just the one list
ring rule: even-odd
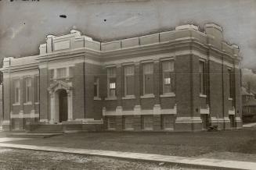
{"label": "large brick building with pale stone trim and arched entrance", "polygon": [[213,23],[110,42],[71,30],[39,49],[4,58],[5,130],[241,127],[239,48]]}

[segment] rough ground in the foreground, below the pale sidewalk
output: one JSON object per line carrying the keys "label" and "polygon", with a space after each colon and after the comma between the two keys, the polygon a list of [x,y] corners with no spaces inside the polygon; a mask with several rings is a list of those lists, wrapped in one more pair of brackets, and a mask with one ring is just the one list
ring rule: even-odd
{"label": "rough ground in the foreground, below the pale sidewalk", "polygon": [[0,147],[0,169],[138,169],[138,170],[193,170],[178,165],[162,165],[142,161],[62,154],[44,151],[13,150]]}

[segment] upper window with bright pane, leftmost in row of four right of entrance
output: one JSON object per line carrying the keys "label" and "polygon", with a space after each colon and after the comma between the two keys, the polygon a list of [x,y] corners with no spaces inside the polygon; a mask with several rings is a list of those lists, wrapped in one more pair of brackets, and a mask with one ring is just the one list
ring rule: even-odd
{"label": "upper window with bright pane, leftmost in row of four right of entrance", "polygon": [[116,97],[116,68],[107,69],[108,97]]}

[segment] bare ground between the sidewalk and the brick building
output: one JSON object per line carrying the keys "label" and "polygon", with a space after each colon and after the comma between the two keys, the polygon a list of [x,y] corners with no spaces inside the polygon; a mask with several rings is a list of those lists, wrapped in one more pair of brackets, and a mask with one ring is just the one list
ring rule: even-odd
{"label": "bare ground between the sidewalk and the brick building", "polygon": [[256,161],[256,128],[198,133],[68,133],[9,143]]}

